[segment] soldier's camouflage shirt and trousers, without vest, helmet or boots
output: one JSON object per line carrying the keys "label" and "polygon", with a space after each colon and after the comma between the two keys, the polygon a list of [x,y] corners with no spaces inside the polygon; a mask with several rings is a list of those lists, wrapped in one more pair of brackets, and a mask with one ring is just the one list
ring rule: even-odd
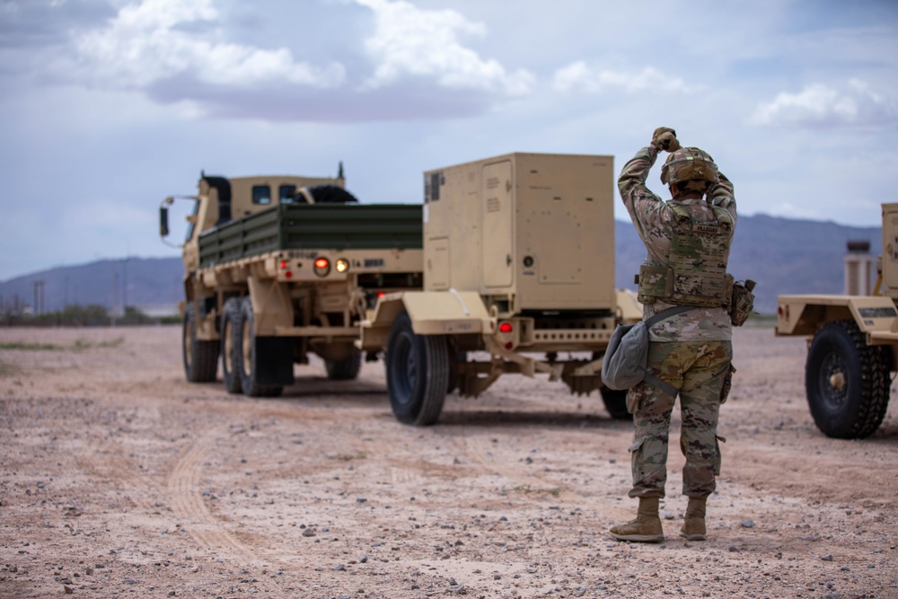
{"label": "soldier's camouflage shirt and trousers, without vest, helmet or boots", "polygon": [[[649,145],[623,167],[618,187],[639,237],[646,244],[648,260],[665,264],[671,248],[674,211],[646,187],[646,178],[658,150]],[[723,174],[707,191],[707,200],[732,218],[727,248],[735,230],[733,185]],[[675,201],[675,200],[674,200]],[[693,222],[715,221],[705,199],[680,201]],[[727,249],[728,253],[728,249]],[[670,308],[663,300],[646,304],[643,318]],[[721,391],[733,356],[729,314],[723,307],[696,307],[657,323],[649,330],[648,371],[679,391],[682,428],[681,449],[686,456],[682,492],[690,498],[706,498],[715,489],[720,471],[717,436]],[[667,480],[667,445],[671,413],[676,397],[649,383],[628,392],[633,411],[634,443],[630,447],[633,488],[629,497],[663,498]]]}

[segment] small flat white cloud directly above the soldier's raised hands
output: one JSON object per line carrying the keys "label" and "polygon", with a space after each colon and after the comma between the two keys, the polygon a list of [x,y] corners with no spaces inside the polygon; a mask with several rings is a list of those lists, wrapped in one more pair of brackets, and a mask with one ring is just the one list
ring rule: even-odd
{"label": "small flat white cloud directly above the soldier's raised hands", "polygon": [[628,93],[691,93],[700,89],[690,87],[679,77],[665,75],[651,66],[645,67],[638,73],[595,71],[583,60],[578,60],[556,71],[552,87],[558,92],[590,94],[614,90]]}

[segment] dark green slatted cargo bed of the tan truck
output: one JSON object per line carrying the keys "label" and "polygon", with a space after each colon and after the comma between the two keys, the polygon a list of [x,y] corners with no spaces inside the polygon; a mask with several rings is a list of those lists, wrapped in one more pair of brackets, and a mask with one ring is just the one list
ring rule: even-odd
{"label": "dark green slatted cargo bed of the tan truck", "polygon": [[420,249],[417,204],[282,204],[199,236],[199,266],[278,250]]}

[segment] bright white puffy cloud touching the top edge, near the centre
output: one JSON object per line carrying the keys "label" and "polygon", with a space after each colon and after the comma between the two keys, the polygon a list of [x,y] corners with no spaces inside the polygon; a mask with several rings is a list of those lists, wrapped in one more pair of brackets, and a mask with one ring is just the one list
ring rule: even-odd
{"label": "bright white puffy cloud touching the top edge, near the centre", "polygon": [[377,67],[369,88],[395,83],[403,75],[436,77],[455,89],[477,89],[524,95],[535,78],[524,70],[509,73],[497,60],[484,60],[459,41],[462,34],[484,36],[482,23],[470,22],[453,10],[427,11],[398,0],[356,0],[374,11],[374,35],[365,48]]}

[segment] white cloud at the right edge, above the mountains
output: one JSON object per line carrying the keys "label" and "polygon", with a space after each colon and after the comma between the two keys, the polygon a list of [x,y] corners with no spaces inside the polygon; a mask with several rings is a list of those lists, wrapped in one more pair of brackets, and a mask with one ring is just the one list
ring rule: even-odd
{"label": "white cloud at the right edge, above the mountains", "polygon": [[751,122],[766,126],[813,128],[891,125],[898,119],[894,103],[863,81],[852,79],[844,91],[810,84],[799,93],[780,93],[755,110]]}

